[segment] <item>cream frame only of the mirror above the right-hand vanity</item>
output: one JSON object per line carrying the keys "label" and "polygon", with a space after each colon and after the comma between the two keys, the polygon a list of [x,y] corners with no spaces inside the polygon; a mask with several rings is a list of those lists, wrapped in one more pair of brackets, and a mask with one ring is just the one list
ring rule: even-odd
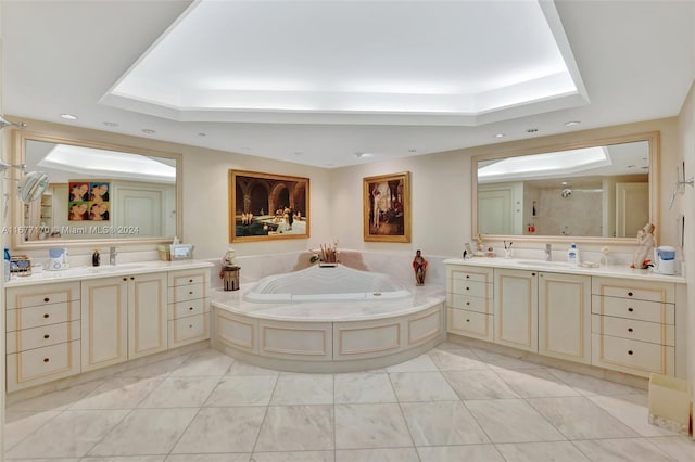
{"label": "cream frame only of the mirror above the right-hand vanity", "polygon": [[[471,157],[471,238],[478,235],[478,162],[491,161],[503,157],[518,157],[532,154],[546,154],[551,152],[577,150],[582,147],[604,146],[611,144],[631,143],[636,141],[647,141],[649,143],[649,221],[656,226],[655,234],[658,239],[661,215],[659,208],[660,184],[660,132],[648,131],[635,134],[624,134],[609,138],[592,139],[586,141],[576,141],[560,144],[541,145],[536,147],[523,147],[509,151],[501,151],[492,154],[483,154]],[[482,234],[485,241],[517,241],[517,242],[558,242],[558,243],[585,243],[585,244],[612,244],[612,245],[634,245],[635,238],[607,238],[607,236],[565,236],[565,235],[505,235],[505,234]],[[658,241],[657,241],[658,242]]]}

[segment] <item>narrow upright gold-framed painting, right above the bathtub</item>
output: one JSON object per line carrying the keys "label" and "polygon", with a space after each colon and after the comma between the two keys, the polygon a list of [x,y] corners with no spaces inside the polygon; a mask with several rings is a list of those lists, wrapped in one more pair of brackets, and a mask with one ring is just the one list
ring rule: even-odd
{"label": "narrow upright gold-framed painting, right above the bathtub", "polygon": [[364,240],[410,242],[409,171],[363,179]]}

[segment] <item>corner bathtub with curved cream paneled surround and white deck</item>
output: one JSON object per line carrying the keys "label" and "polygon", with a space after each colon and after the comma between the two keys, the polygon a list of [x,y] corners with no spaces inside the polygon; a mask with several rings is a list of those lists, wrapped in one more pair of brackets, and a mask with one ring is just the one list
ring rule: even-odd
{"label": "corner bathtub with curved cream paneled surround and white deck", "polygon": [[213,291],[213,346],[254,365],[349,372],[395,364],[444,341],[444,288],[409,290],[342,265]]}

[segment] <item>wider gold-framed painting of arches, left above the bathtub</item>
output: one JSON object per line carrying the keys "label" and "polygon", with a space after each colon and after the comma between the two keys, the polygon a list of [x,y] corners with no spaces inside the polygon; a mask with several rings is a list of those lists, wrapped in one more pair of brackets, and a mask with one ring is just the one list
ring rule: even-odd
{"label": "wider gold-framed painting of arches, left above the bathtub", "polygon": [[309,236],[308,178],[229,170],[229,242]]}

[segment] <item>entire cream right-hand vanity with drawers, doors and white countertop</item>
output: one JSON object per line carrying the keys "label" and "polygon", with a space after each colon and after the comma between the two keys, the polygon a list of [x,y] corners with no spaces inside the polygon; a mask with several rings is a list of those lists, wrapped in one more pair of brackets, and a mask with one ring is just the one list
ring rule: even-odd
{"label": "entire cream right-hand vanity with drawers, doors and white countertop", "polygon": [[564,261],[444,260],[451,334],[637,376],[686,375],[686,280]]}

